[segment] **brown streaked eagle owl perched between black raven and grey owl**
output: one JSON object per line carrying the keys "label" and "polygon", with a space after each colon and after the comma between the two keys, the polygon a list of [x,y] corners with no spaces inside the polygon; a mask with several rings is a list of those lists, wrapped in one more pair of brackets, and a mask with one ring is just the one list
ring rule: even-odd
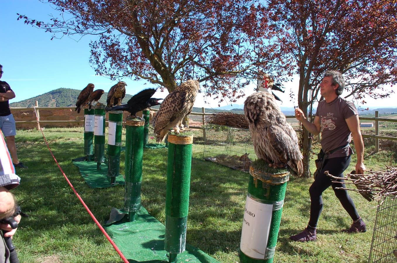
{"label": "brown streaked eagle owl perched between black raven and grey owl", "polygon": [[179,133],[179,127],[183,129],[182,121],[192,112],[199,89],[198,81],[191,79],[166,96],[152,121],[156,142],[164,140],[170,129],[176,133]]}

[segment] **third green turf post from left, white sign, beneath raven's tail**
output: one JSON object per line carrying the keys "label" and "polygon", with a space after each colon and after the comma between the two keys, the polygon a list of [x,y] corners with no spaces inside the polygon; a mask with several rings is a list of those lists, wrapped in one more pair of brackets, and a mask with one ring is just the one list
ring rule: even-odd
{"label": "third green turf post from left, white sign, beneath raven's tail", "polygon": [[123,111],[109,111],[108,134],[108,177],[110,183],[116,182],[120,172],[121,131],[123,129]]}

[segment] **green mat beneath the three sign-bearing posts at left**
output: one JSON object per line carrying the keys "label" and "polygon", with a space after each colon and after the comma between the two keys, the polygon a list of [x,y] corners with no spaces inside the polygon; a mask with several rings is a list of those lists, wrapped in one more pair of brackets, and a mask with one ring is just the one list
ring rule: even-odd
{"label": "green mat beneath the three sign-bearing posts at left", "polygon": [[81,177],[83,177],[85,182],[91,188],[105,188],[125,184],[123,175],[116,177],[116,184],[110,184],[110,177],[108,177],[108,165],[106,163],[101,164],[100,170],[96,170],[96,162],[85,161],[85,157],[73,159],[72,163],[79,167]]}

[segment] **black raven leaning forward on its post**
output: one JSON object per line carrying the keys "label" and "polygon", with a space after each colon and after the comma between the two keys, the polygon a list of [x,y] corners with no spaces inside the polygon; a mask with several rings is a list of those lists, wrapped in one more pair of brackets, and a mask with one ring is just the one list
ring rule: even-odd
{"label": "black raven leaning forward on its post", "polygon": [[154,92],[156,92],[156,89],[154,88],[148,88],[146,90],[142,90],[137,94],[135,94],[134,96],[132,96],[132,98],[129,99],[127,104],[114,106],[112,108],[106,108],[106,111],[116,111],[116,110],[128,111],[129,113],[131,113],[131,116],[137,117],[138,111],[141,111],[146,108],[150,108],[151,106],[161,104],[158,101],[162,99],[151,98]]}

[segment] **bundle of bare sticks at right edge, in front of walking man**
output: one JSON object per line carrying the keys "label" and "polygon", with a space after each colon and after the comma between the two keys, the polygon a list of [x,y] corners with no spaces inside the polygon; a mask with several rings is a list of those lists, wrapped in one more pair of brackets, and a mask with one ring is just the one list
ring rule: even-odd
{"label": "bundle of bare sticks at right edge, in front of walking man", "polygon": [[365,175],[356,175],[355,171],[352,171],[345,178],[335,177],[328,171],[325,171],[325,174],[331,177],[333,182],[344,179],[345,184],[355,184],[357,189],[338,189],[359,192],[368,201],[376,200],[382,204],[387,196],[397,198],[397,167],[386,166],[383,170],[366,171]]}

